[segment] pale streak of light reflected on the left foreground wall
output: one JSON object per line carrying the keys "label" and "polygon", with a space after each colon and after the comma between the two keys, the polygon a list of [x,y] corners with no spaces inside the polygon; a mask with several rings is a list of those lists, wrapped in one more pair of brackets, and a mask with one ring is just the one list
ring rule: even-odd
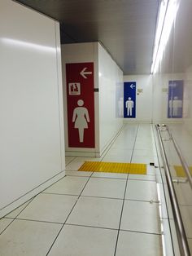
{"label": "pale streak of light reflected on the left foreground wall", "polygon": [[7,45],[19,46],[21,48],[28,48],[36,51],[56,52],[55,47],[38,45],[33,42],[24,42],[20,40],[11,39],[11,38],[1,38],[1,41],[6,43]]}

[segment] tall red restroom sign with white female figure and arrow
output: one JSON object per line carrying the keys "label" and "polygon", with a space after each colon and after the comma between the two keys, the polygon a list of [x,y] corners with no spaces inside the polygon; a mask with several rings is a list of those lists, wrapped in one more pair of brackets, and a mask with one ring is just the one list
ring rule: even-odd
{"label": "tall red restroom sign with white female figure and arrow", "polygon": [[66,64],[68,147],[94,148],[94,63]]}

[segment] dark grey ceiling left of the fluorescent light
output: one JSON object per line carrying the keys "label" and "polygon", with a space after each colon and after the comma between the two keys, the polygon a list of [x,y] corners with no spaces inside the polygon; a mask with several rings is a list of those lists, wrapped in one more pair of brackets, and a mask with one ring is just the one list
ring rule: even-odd
{"label": "dark grey ceiling left of the fluorescent light", "polygon": [[102,42],[124,74],[147,74],[159,0],[19,0],[61,24],[61,42]]}

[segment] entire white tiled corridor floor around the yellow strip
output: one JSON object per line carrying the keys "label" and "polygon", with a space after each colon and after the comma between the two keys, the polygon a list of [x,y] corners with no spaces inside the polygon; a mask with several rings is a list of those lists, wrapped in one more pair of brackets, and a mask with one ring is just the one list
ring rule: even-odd
{"label": "entire white tiled corridor floor around the yellow strip", "polygon": [[[151,126],[124,126],[101,158],[66,157],[66,177],[0,220],[1,256],[161,256]],[[84,161],[142,162],[146,175],[79,172]]]}

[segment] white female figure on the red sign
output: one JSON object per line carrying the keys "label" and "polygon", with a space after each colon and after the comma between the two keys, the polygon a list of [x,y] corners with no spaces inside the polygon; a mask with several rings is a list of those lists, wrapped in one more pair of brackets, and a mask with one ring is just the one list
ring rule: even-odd
{"label": "white female figure on the red sign", "polygon": [[79,99],[77,101],[77,105],[79,107],[73,110],[72,122],[75,122],[74,128],[79,130],[79,140],[80,142],[84,142],[84,129],[88,129],[89,113],[87,108],[82,107],[84,105],[84,101]]}

